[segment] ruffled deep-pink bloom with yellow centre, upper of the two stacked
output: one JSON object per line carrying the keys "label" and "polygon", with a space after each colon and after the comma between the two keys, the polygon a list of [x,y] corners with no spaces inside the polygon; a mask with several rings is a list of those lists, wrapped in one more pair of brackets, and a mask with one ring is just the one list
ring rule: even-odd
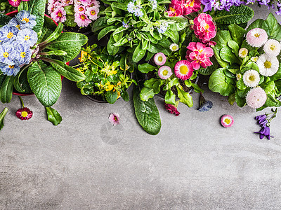
{"label": "ruffled deep-pink bloom with yellow centre, upper of the two stacked", "polygon": [[216,36],[216,25],[213,22],[211,15],[201,13],[194,19],[193,25],[195,35],[202,40],[203,43],[207,43]]}

